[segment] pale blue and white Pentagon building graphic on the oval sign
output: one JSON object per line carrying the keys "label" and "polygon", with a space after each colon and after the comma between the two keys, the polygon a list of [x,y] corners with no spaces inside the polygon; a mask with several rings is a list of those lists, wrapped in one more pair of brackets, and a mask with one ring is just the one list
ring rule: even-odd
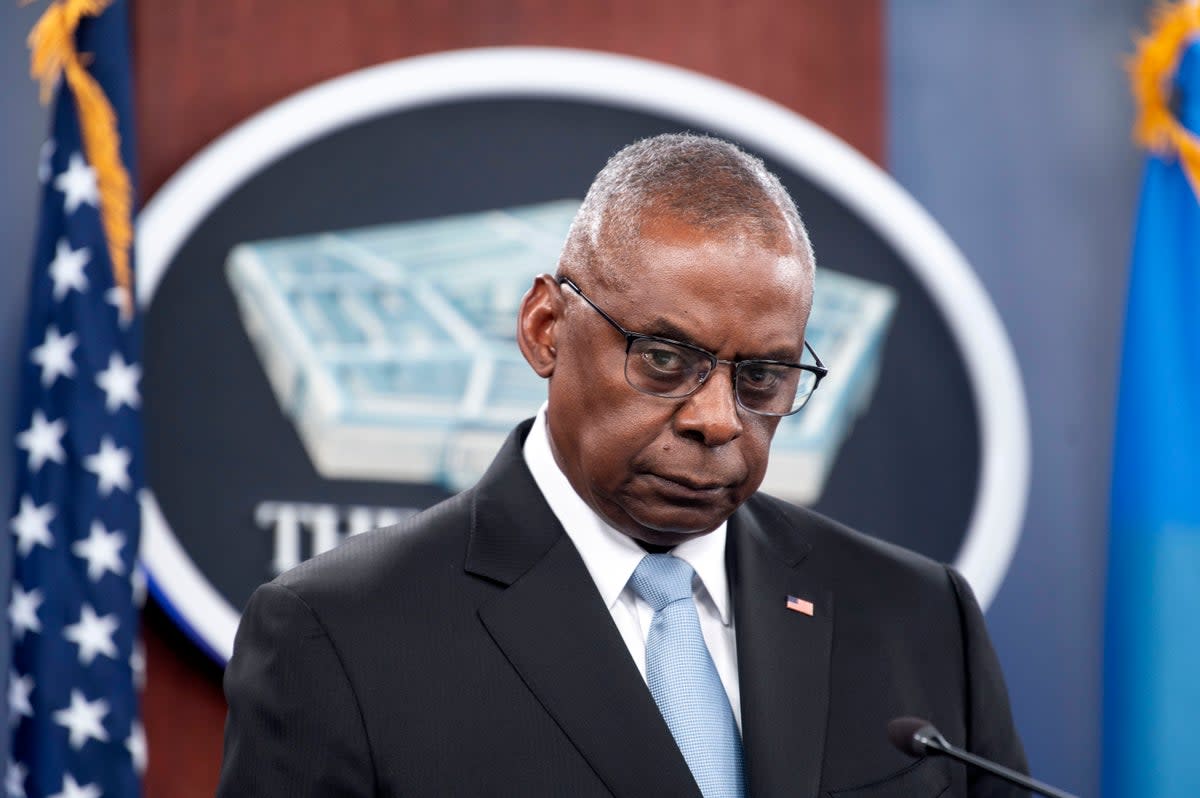
{"label": "pale blue and white Pentagon building graphic on the oval sign", "polygon": [[[479,479],[546,388],[517,349],[533,276],[578,200],[241,244],[227,274],[280,407],[329,479]],[[808,338],[829,377],[772,445],[763,490],[816,500],[870,401],[895,296],[820,269]]]}

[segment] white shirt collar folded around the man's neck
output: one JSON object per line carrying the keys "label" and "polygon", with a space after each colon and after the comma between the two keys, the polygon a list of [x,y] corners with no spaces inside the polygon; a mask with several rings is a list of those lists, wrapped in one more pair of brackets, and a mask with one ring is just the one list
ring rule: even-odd
{"label": "white shirt collar folded around the man's neck", "polygon": [[[550,448],[546,407],[542,403],[526,438],[526,464],[541,494],[546,497],[554,517],[563,524],[563,529],[583,558],[583,564],[600,590],[605,606],[612,610],[646,552],[628,535],[613,529],[571,487]],[[727,524],[721,523],[707,535],[698,535],[679,544],[671,553],[691,565],[721,616],[721,623],[728,625],[731,617],[728,577],[725,572],[726,530]]]}

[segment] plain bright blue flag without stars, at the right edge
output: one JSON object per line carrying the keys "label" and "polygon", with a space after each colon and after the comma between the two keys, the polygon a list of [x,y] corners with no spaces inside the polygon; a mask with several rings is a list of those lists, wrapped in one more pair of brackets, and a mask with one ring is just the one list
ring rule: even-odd
{"label": "plain bright blue flag without stars, at the right edge", "polygon": [[[1159,120],[1186,137],[1200,132],[1194,32],[1166,54]],[[1147,157],[1133,248],[1109,544],[1108,798],[1200,796],[1200,174],[1187,172],[1177,149]]]}

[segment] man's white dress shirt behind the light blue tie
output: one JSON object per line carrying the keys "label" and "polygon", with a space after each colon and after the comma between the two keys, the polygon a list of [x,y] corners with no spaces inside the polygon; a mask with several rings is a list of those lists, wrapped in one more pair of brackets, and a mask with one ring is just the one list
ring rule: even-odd
{"label": "man's white dress shirt behind the light blue tie", "polygon": [[[644,679],[646,636],[650,631],[654,610],[629,587],[629,577],[634,575],[634,569],[646,552],[631,538],[613,529],[571,487],[550,449],[545,404],[538,410],[538,418],[526,438],[524,460],[541,494],[546,497],[546,503],[583,558],[588,574],[600,590],[600,598],[612,613],[613,623]],[[700,616],[700,628],[740,730],[742,697],[738,692],[737,641],[730,606],[730,582],[725,572],[725,534],[726,524],[722,523],[707,535],[679,544],[671,553],[696,571],[692,598]]]}

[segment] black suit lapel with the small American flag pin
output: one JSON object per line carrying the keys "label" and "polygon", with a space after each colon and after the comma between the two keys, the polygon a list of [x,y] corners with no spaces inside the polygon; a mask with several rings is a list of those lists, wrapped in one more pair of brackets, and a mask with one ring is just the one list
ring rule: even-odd
{"label": "black suit lapel with the small American flag pin", "polygon": [[[727,545],[737,628],[746,794],[816,796],[833,654],[833,593],[809,545],[766,502],[731,520]],[[811,601],[812,616],[787,608]]]}

